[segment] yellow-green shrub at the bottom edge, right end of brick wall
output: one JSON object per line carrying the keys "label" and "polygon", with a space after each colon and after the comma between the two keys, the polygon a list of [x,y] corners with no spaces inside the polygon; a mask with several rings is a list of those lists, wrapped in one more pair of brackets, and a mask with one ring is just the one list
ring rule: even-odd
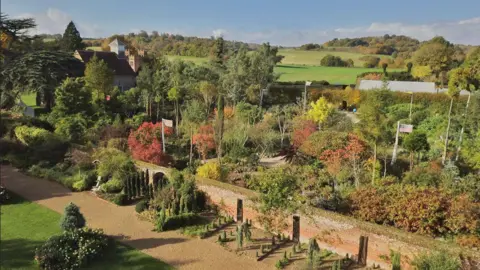
{"label": "yellow-green shrub at the bottom edge, right end of brick wall", "polygon": [[423,253],[416,257],[412,264],[418,270],[458,270],[462,266],[458,257],[444,251]]}

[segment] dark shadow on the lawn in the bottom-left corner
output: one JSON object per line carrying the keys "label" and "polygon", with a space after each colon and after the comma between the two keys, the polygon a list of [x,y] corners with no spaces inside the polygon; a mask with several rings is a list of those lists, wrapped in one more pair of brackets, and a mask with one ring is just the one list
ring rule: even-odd
{"label": "dark shadow on the lawn in the bottom-left corner", "polygon": [[0,268],[34,268],[35,249],[42,244],[43,241],[31,241],[26,239],[2,240],[0,243]]}

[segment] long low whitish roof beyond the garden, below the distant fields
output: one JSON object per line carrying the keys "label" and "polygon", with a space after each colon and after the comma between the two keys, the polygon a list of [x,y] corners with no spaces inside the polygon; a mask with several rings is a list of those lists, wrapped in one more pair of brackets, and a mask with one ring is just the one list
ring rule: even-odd
{"label": "long low whitish roof beyond the garden, below the distant fields", "polygon": [[[383,87],[383,81],[361,80],[358,89],[372,90]],[[433,82],[405,82],[405,81],[387,81],[387,88],[397,92],[413,93],[437,93],[435,83]]]}

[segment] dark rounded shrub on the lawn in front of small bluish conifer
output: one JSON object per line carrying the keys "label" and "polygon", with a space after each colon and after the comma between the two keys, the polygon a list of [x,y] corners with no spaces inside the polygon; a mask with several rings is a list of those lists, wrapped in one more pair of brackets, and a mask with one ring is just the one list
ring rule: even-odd
{"label": "dark rounded shrub on the lawn in front of small bluish conifer", "polygon": [[65,231],[39,247],[35,251],[35,261],[41,269],[77,269],[101,257],[108,246],[109,239],[101,230]]}

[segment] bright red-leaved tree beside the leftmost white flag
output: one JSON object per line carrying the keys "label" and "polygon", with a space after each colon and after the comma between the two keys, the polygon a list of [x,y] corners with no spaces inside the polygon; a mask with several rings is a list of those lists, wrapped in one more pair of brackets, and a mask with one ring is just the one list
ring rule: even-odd
{"label": "bright red-leaved tree beside the leftmost white flag", "polygon": [[[173,129],[164,127],[165,135],[173,133]],[[162,124],[143,123],[128,136],[128,148],[133,158],[142,161],[165,165],[171,161],[170,156],[162,150]]]}

